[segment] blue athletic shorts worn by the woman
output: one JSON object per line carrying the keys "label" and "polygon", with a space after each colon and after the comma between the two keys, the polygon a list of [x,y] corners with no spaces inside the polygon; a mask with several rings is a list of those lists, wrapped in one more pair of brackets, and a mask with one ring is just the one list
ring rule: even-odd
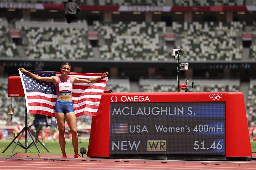
{"label": "blue athletic shorts worn by the woman", "polygon": [[57,100],[55,103],[55,113],[69,113],[74,112],[72,101]]}

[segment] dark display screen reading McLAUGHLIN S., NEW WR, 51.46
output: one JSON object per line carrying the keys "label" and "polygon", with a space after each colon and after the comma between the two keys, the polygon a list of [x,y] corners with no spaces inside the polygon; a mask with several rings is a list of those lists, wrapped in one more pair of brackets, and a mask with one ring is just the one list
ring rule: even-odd
{"label": "dark display screen reading McLAUGHLIN S., NEW WR, 51.46", "polygon": [[109,154],[226,154],[225,102],[110,103]]}

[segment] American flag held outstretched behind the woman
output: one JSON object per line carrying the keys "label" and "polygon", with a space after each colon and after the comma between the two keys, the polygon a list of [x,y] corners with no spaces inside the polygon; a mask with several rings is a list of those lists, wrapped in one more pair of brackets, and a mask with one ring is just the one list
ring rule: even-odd
{"label": "American flag held outstretched behind the woman", "polygon": [[[60,76],[60,72],[30,71],[38,76]],[[54,116],[55,102],[57,100],[56,89],[53,83],[37,81],[19,70],[21,82],[25,92],[27,112]],[[99,73],[69,73],[69,76],[77,78],[96,78]],[[72,100],[76,117],[81,115],[95,116],[100,105],[101,94],[105,89],[108,77],[94,83],[74,83]]]}

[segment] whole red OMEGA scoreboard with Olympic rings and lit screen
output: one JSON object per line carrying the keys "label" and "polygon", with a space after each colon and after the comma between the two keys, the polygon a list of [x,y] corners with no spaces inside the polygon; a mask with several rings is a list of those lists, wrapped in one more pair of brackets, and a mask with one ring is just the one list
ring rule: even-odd
{"label": "whole red OMEGA scoreboard with Olympic rings and lit screen", "polygon": [[[103,93],[90,157],[252,156],[241,92]],[[199,156],[199,157],[198,157]]]}

